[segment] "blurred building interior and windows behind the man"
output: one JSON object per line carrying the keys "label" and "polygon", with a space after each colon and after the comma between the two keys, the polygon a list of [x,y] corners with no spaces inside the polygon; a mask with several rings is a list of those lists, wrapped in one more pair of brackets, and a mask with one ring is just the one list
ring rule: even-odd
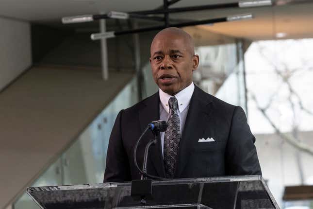
{"label": "blurred building interior and windows behind the man", "polygon": [[[228,3],[238,1],[180,0],[169,8]],[[148,61],[158,31],[101,40],[90,35],[162,22],[62,24],[62,17],[162,5],[0,0],[0,209],[37,209],[25,193],[30,186],[102,182],[117,113],[158,90]],[[312,0],[273,0],[169,15],[182,21],[253,15],[183,30],[200,57],[194,83],[244,108],[263,177],[282,209],[313,209],[312,11]]]}

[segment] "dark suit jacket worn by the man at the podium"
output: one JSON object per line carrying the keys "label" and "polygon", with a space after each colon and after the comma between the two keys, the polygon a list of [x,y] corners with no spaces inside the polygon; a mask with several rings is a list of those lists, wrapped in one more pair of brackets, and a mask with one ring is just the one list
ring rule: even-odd
{"label": "dark suit jacket worn by the man at the podium", "polygon": [[[111,133],[104,182],[140,179],[133,162],[133,148],[148,123],[159,120],[159,92],[121,110]],[[198,142],[213,138],[214,142]],[[160,138],[160,137],[159,137]],[[141,140],[137,161],[142,168],[150,131]],[[174,178],[221,175],[261,175],[255,138],[243,109],[225,103],[195,86],[179,144]],[[148,174],[165,177],[161,139],[150,147]]]}

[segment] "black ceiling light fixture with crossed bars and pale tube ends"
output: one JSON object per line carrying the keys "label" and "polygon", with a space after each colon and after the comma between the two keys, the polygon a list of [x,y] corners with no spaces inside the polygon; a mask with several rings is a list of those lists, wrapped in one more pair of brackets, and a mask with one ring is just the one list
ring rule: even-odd
{"label": "black ceiling light fixture with crossed bars and pale tube ends", "polygon": [[[186,19],[171,19],[169,18],[169,14],[177,13],[177,12],[188,12],[188,11],[199,11],[206,9],[214,9],[214,8],[229,8],[229,7],[238,7],[238,4],[241,4],[243,7],[245,6],[261,6],[271,4],[271,0],[254,0],[254,1],[239,1],[236,3],[228,3],[228,4],[211,4],[211,5],[202,5],[202,6],[192,6],[192,7],[178,7],[178,8],[168,8],[170,4],[173,4],[179,0],[171,0],[166,3],[164,1],[163,9],[155,9],[155,10],[147,10],[147,11],[137,11],[137,12],[117,12],[110,11],[107,14],[100,15],[83,15],[83,16],[73,16],[73,17],[63,17],[62,22],[64,24],[67,23],[80,23],[80,22],[90,22],[99,19],[146,19],[153,20],[158,22],[164,22],[164,25],[147,27],[147,28],[138,28],[127,31],[116,31],[116,32],[106,32],[99,34],[92,34],[91,39],[98,40],[102,38],[111,38],[117,35],[125,35],[125,34],[134,34],[134,33],[142,33],[148,31],[157,31],[162,30],[167,27],[187,27],[187,26],[195,26],[195,25],[205,25],[205,24],[213,24],[219,22],[227,22],[227,21],[235,21],[235,20],[244,20],[253,18],[252,14],[242,14],[242,15],[232,15],[227,17],[218,17],[214,19],[203,19],[203,20],[187,20]],[[152,14],[164,14],[164,17],[159,16],[151,16]]]}

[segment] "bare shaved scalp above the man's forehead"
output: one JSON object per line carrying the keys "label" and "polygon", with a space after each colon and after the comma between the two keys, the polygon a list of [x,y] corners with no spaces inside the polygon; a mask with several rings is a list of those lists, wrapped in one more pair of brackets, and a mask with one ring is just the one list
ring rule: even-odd
{"label": "bare shaved scalp above the man's forehead", "polygon": [[174,27],[165,28],[159,33],[157,33],[157,35],[154,36],[152,43],[151,43],[150,52],[151,52],[152,46],[155,45],[157,42],[165,41],[165,40],[173,40],[173,39],[182,39],[185,50],[191,55],[195,54],[195,44],[191,35],[181,30],[180,28],[174,28]]}

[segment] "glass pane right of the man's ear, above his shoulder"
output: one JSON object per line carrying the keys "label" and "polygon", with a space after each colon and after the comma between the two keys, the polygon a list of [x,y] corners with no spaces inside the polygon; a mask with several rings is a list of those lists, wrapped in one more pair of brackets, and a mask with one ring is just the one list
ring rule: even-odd
{"label": "glass pane right of the man's ear, above his shoulder", "polygon": [[194,72],[196,85],[247,110],[242,43],[199,46],[195,51],[200,58],[198,70]]}

